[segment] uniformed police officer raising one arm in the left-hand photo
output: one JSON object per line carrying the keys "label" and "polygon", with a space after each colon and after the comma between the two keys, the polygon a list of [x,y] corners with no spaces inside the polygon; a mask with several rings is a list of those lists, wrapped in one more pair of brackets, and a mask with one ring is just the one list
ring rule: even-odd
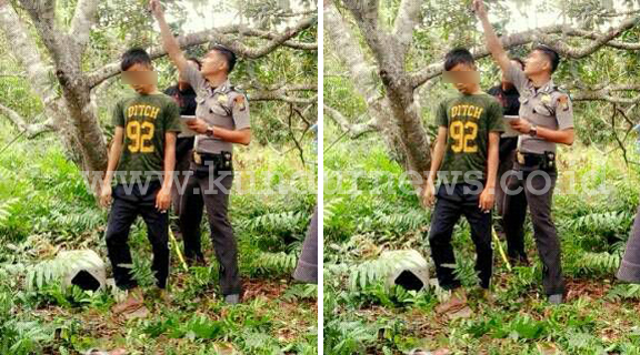
{"label": "uniformed police officer raising one arm in the left-hand photo", "polygon": [[202,258],[200,221],[202,206],[206,206],[220,264],[220,288],[224,301],[236,304],[240,301],[241,285],[238,244],[228,217],[233,181],[232,152],[234,143],[247,145],[251,140],[247,97],[236,90],[228,78],[236,64],[236,54],[214,44],[202,59],[201,70],[189,65],[164,20],[160,2],[151,0],[150,7],[160,24],[167,53],[197,94],[197,119],[187,122],[198,135],[191,162],[193,174],[187,178],[180,211],[184,254],[190,260]]}

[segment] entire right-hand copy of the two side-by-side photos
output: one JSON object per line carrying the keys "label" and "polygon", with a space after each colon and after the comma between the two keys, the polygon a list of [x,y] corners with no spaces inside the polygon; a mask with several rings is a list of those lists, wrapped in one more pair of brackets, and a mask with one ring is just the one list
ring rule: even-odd
{"label": "entire right-hand copy of the two side-by-side photos", "polygon": [[324,1],[326,354],[640,348],[639,17]]}

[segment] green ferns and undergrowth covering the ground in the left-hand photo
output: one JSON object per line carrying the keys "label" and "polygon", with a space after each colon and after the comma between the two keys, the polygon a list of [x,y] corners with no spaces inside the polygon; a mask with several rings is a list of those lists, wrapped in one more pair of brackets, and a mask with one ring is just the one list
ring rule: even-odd
{"label": "green ferns and undergrowth covering the ground in the left-hand photo", "polygon": [[[129,236],[131,273],[146,291],[153,316],[118,325],[104,320],[110,317],[119,293],[63,288],[60,277],[87,261],[54,257],[61,250],[91,248],[107,262],[107,211],[96,206],[78,168],[64,159],[59,145],[36,152],[26,149],[28,142],[16,144],[0,154],[0,171],[11,178],[0,180],[1,354],[78,354],[121,346],[177,355],[208,354],[211,348],[266,355],[317,353],[317,286],[281,285],[283,281],[292,283],[290,275],[314,195],[232,194],[230,214],[240,267],[252,292],[238,307],[226,306],[216,296],[219,272],[206,219],[202,242],[210,265],[184,272],[172,257],[172,301],[158,298],[151,247],[144,223],[138,220]],[[294,153],[282,156],[271,149],[240,151],[236,159],[280,170],[284,173],[281,183],[289,183],[288,176],[304,170]],[[242,174],[239,172],[238,179]],[[306,179],[294,183],[310,181]],[[253,187],[271,187],[271,183],[258,180]],[[7,195],[11,199],[3,199]],[[283,305],[289,310],[286,313],[280,311]],[[92,322],[101,326],[89,328]],[[280,337],[284,332],[287,338]]]}

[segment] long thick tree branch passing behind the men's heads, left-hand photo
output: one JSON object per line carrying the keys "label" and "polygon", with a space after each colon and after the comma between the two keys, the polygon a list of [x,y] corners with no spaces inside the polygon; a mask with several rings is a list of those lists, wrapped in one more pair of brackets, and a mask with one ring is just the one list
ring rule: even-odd
{"label": "long thick tree branch passing behind the men's heads, left-hand photo", "polygon": [[[311,27],[312,24],[316,23],[316,21],[317,21],[316,17],[303,19],[300,22],[298,22],[292,29],[288,29],[287,31],[282,32],[282,33],[264,34],[262,31],[247,30],[248,31],[247,33],[256,33],[257,36],[260,34],[262,37],[270,38],[270,41],[267,44],[264,44],[262,47],[258,47],[258,48],[249,48],[248,45],[244,45],[244,44],[238,42],[234,37],[231,37],[231,34],[236,34],[236,33],[239,33],[242,31],[242,27],[238,26],[238,24],[227,26],[227,27],[221,27],[221,28],[217,28],[217,29],[212,29],[212,30],[206,30],[206,31],[200,31],[200,32],[182,36],[182,37],[178,38],[178,43],[180,44],[180,48],[184,49],[184,48],[192,47],[192,45],[198,45],[198,44],[203,44],[203,43],[209,43],[209,42],[218,42],[220,44],[224,44],[224,45],[229,47],[239,55],[242,55],[246,58],[251,58],[251,59],[257,59],[257,58],[260,58],[260,57],[263,57],[263,55],[270,53],[278,45],[281,45],[281,44],[286,45],[284,43],[287,43],[287,41],[289,41],[289,39],[297,36],[300,31]],[[258,36],[258,37],[260,37],[260,36]],[[298,43],[298,42],[294,42],[293,45],[296,45],[296,43]],[[318,47],[316,44],[316,50],[317,50],[317,48]],[[167,51],[164,51],[162,45],[152,47],[149,49],[148,52],[149,52],[149,55],[151,57],[151,59],[153,59],[153,60],[167,55]],[[111,77],[114,77],[119,73],[120,73],[120,61],[114,61],[114,62],[111,62],[109,64],[103,65],[100,69],[97,69],[97,70],[90,72],[87,77],[88,77],[88,82],[89,82],[90,88],[93,88],[93,87],[98,85],[99,83],[101,83],[102,81],[104,81]]]}

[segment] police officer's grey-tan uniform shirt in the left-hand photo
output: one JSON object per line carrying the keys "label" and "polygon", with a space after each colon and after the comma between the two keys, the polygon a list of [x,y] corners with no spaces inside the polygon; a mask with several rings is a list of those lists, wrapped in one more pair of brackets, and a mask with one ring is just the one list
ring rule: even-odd
{"label": "police officer's grey-tan uniform shirt in the left-hand photo", "polygon": [[[198,104],[196,116],[198,119],[204,120],[208,125],[227,130],[243,130],[251,126],[247,97],[236,91],[229,80],[218,88],[212,88],[198,68],[193,65],[186,65],[182,74],[196,91],[196,103]],[[233,144],[219,138],[198,134],[196,151],[209,154],[218,154],[223,151],[232,152]]]}

